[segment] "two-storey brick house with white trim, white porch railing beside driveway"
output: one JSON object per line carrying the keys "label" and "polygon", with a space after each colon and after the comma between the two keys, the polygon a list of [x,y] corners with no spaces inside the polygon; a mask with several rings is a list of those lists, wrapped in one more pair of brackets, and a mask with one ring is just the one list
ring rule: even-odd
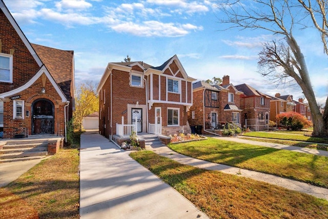
{"label": "two-storey brick house with white trim, white porch railing beside driveway", "polygon": [[110,139],[129,136],[131,129],[158,135],[190,133],[187,112],[194,80],[176,55],[159,67],[109,63],[97,88],[99,133]]}

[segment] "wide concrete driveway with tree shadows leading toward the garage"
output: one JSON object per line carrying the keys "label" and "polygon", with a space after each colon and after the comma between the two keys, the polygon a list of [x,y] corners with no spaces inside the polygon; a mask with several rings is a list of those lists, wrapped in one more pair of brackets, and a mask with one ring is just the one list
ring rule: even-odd
{"label": "wide concrete driveway with tree shadows leading toward the garage", "polygon": [[208,218],[107,138],[80,142],[81,218]]}

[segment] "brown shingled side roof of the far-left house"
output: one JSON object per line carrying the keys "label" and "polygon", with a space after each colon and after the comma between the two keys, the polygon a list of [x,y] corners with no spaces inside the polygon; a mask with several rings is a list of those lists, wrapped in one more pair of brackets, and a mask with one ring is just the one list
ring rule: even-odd
{"label": "brown shingled side roof of the far-left house", "polygon": [[71,86],[74,80],[74,51],[60,50],[37,44],[31,44],[36,54],[49,70],[66,97],[71,97]]}

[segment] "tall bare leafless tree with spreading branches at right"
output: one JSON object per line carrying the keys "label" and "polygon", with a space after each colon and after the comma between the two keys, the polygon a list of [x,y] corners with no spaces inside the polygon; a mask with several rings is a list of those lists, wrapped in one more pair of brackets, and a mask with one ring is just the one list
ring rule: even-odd
{"label": "tall bare leafless tree with spreading branches at right", "polygon": [[[313,136],[327,136],[328,110],[322,115],[318,109],[304,55],[293,36],[296,28],[315,27],[321,34],[323,48],[327,53],[326,0],[309,0],[307,3],[301,0],[253,0],[247,1],[249,7],[244,2],[226,1],[218,4],[217,7],[227,15],[221,22],[241,30],[262,29],[284,40],[285,43],[273,41],[263,45],[258,62],[260,73],[278,83],[284,83],[289,78],[294,80],[309,102]],[[309,16],[311,19],[308,19]],[[317,19],[321,19],[322,26],[318,25]],[[309,20],[312,21],[311,26],[308,26]]]}

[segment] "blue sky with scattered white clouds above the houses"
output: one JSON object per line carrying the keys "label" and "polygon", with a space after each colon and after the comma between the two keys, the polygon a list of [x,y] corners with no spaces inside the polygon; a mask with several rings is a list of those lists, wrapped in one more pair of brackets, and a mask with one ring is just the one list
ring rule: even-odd
{"label": "blue sky with scattered white clouds above the houses", "polygon": [[[217,1],[4,0],[31,43],[74,50],[75,80],[98,83],[109,62],[144,61],[159,66],[174,54],[196,79],[230,76],[263,93],[304,98],[298,86],[268,84],[257,69],[269,32],[227,29]],[[317,102],[328,95],[328,56],[315,30],[294,32]]]}

